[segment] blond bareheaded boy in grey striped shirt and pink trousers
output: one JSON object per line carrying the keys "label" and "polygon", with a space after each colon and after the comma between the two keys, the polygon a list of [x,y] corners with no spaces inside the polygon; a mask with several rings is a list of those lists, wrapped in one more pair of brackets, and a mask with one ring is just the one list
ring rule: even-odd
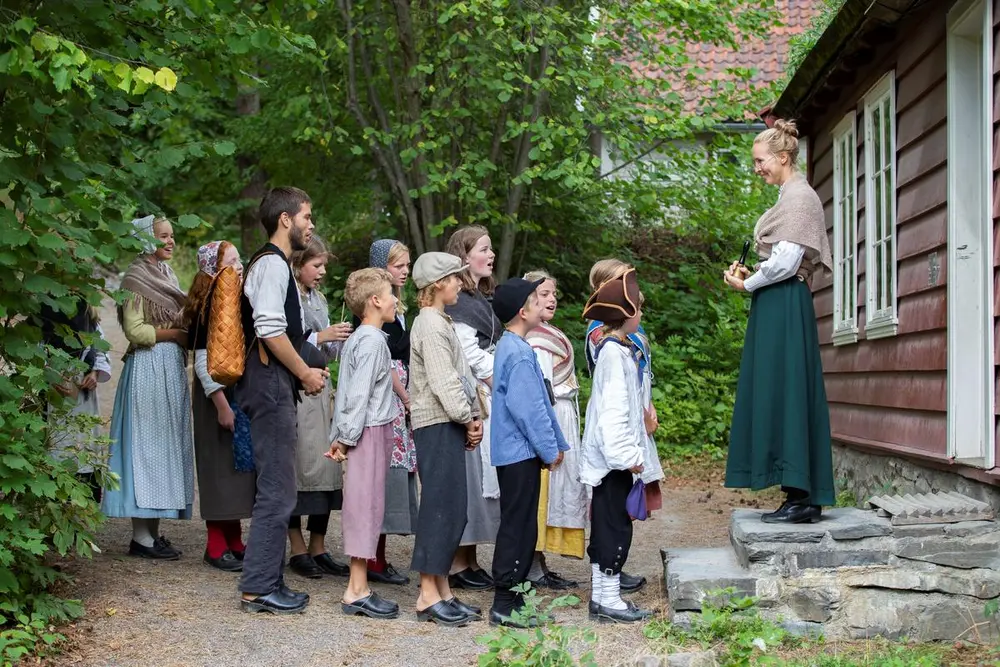
{"label": "blond bareheaded boy in grey striped shirt and pink trousers", "polygon": [[[396,618],[399,605],[368,587],[368,559],[375,558],[385,512],[385,476],[392,454],[393,401],[389,345],[382,325],[396,318],[392,276],[385,269],[361,269],[347,277],[344,300],[361,326],[344,345],[337,378],[337,402],[329,458],[350,458],[344,480],[344,553],[351,578],[343,612]],[[350,452],[348,454],[348,452]]]}

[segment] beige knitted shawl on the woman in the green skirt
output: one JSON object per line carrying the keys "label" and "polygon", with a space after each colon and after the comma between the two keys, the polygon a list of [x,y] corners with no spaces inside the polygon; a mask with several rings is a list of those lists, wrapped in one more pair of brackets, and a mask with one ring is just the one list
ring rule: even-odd
{"label": "beige knitted shawl on the woman in the green skirt", "polygon": [[778,202],[757,221],[753,237],[762,261],[771,256],[771,247],[778,241],[803,246],[806,253],[799,269],[803,278],[820,265],[833,269],[823,203],[801,174],[796,173],[782,186]]}

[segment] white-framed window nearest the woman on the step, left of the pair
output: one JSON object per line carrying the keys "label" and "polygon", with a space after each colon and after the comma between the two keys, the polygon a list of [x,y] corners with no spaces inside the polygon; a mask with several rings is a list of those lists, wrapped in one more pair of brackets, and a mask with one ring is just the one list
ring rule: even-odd
{"label": "white-framed window nearest the woman on the step, left of the pair", "polygon": [[833,344],[858,340],[858,139],[852,111],[833,129]]}

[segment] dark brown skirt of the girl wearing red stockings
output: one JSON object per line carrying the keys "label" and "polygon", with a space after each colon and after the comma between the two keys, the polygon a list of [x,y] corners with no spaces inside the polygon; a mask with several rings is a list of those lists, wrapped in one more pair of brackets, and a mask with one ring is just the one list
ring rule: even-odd
{"label": "dark brown skirt of the girl wearing red stockings", "polygon": [[253,471],[236,470],[233,433],[219,426],[215,404],[205,396],[197,375],[191,389],[191,404],[201,518],[205,521],[249,519],[257,493],[257,475]]}

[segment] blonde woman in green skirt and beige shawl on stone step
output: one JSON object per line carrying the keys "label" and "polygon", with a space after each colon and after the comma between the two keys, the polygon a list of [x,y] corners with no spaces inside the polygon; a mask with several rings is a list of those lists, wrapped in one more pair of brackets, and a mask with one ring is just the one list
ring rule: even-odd
{"label": "blonde woman in green skirt and beige shawl on stone step", "polygon": [[781,190],[757,221],[755,272],[733,263],[724,274],[750,292],[726,486],[763,489],[780,484],[785,502],[767,523],[819,519],[834,503],[830,411],[823,386],[816,313],[809,278],[832,260],[823,204],[796,168],[795,124],[779,120],[757,135],[754,171]]}

